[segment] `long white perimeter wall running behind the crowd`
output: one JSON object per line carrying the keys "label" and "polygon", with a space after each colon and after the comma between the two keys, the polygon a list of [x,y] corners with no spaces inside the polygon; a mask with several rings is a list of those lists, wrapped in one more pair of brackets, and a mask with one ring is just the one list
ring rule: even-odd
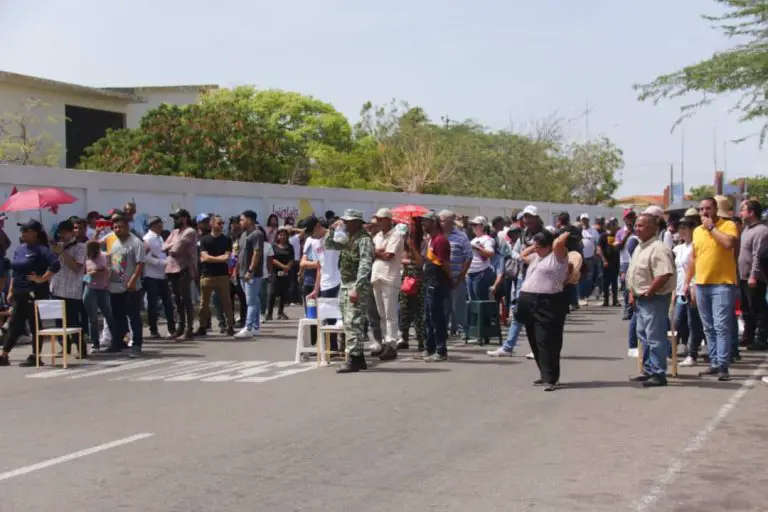
{"label": "long white perimeter wall running behind the crowd", "polygon": [[[186,208],[193,215],[218,213],[238,215],[246,209],[256,211],[263,224],[270,213],[300,218],[311,213],[324,215],[333,210],[341,215],[345,208],[361,210],[370,218],[378,208],[400,204],[419,204],[435,210],[449,209],[460,215],[484,215],[489,220],[496,215],[510,215],[530,204],[528,201],[506,201],[475,197],[369,192],[333,188],[297,187],[236,181],[196,180],[166,176],[115,174],[96,171],[75,171],[44,167],[0,165],[0,203],[5,202],[13,187],[19,191],[35,187],[57,187],[78,198],[72,205],[62,206],[57,214],[44,211],[43,223],[51,229],[72,215],[85,216],[89,211],[105,213],[134,201],[139,218],[158,215],[170,224],[168,214],[176,208]],[[574,204],[534,203],[547,224],[554,223],[558,213],[567,211],[571,219],[581,213],[594,216],[621,215],[621,209]],[[16,222],[38,217],[38,212],[9,213],[6,231],[15,239]]]}

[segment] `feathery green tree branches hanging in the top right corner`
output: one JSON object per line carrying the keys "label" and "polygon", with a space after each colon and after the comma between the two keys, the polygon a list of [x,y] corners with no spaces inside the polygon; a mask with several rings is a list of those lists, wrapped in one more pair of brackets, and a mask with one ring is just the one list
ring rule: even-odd
{"label": "feathery green tree branches hanging in the top right corner", "polygon": [[[640,100],[654,102],[688,93],[701,94],[699,101],[682,107],[678,123],[716,97],[731,93],[739,95],[734,110],[740,112],[741,121],[763,121],[768,114],[768,0],[714,1],[725,6],[725,14],[703,18],[739,43],[650,83],[635,85],[635,89]],[[766,134],[768,124],[764,122],[761,145]]]}

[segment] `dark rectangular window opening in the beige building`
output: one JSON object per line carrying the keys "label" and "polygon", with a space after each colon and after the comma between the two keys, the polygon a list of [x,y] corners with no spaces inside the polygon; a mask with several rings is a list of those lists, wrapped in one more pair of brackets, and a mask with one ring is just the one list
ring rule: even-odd
{"label": "dark rectangular window opening in the beige building", "polygon": [[67,117],[67,168],[73,168],[83,156],[85,148],[104,137],[107,128],[125,128],[125,114],[94,108],[64,106]]}

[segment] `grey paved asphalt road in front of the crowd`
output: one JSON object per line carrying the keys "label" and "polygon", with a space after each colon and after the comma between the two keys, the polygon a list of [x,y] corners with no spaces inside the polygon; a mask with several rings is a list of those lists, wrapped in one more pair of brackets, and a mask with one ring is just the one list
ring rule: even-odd
{"label": "grey paved asphalt road in front of the crowd", "polygon": [[626,323],[589,308],[545,393],[532,361],[472,345],[356,375],[295,365],[295,329],[0,369],[0,511],[768,509],[761,357],[728,383],[682,369],[639,389]]}

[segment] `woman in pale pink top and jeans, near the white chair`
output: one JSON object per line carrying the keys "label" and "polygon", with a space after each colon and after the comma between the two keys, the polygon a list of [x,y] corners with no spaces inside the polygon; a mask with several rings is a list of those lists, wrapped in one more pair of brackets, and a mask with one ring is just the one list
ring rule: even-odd
{"label": "woman in pale pink top and jeans, near the white chair", "polygon": [[87,332],[91,338],[93,350],[96,351],[99,349],[99,311],[104,316],[104,322],[110,333],[114,328],[112,307],[109,303],[109,269],[107,257],[101,252],[98,241],[91,240],[85,245],[85,255],[83,305],[88,314]]}

